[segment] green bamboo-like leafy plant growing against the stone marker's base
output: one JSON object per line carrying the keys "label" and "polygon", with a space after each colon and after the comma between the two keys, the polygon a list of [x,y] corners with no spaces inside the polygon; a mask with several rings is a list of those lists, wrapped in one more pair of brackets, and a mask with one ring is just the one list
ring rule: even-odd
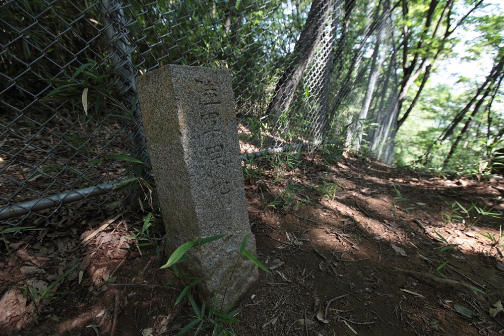
{"label": "green bamboo-like leafy plant growing against the stone marker's base", "polygon": [[[191,249],[194,247],[199,247],[201,245],[217,241],[223,237],[227,236],[227,234],[221,234],[221,235],[216,235],[216,236],[211,236],[211,237],[206,237],[202,239],[195,238],[193,241],[188,241],[182,245],[180,245],[173,253],[170,255],[168,258],[168,261],[160,267],[160,269],[168,269],[175,277],[173,280],[178,279],[180,280],[184,285],[184,289],[180,292],[179,296],[175,300],[174,305],[178,305],[180,302],[182,302],[183,299],[187,299],[187,301],[191,304],[191,307],[193,308],[194,315],[186,316],[186,317],[191,317],[193,320],[189,322],[187,325],[182,327],[177,335],[182,335],[186,333],[187,331],[191,330],[192,328],[196,327],[196,330],[194,332],[194,335],[197,335],[200,333],[202,330],[207,330],[211,332],[212,335],[236,335],[236,333],[233,330],[232,323],[239,322],[237,318],[234,316],[238,313],[238,309],[233,309],[233,306],[231,305],[230,307],[227,307],[223,309],[222,305],[224,302],[224,299],[227,294],[227,289],[229,288],[229,284],[232,281],[233,275],[236,271],[236,266],[238,264],[238,261],[240,260],[241,256],[245,256],[248,258],[250,261],[255,263],[261,270],[271,273],[268,268],[266,268],[261,261],[259,261],[253,254],[251,254],[249,251],[245,250],[248,242],[248,235],[245,235],[240,243],[239,246],[239,253],[237,258],[235,259],[235,263],[233,266],[233,270],[231,271],[231,274],[229,275],[228,278],[228,283],[226,285],[226,289],[224,291],[224,295],[222,298],[222,302],[220,305],[218,305],[217,302],[217,293],[214,293],[214,296],[211,300],[211,305],[208,307],[208,310],[206,310],[207,307],[205,307],[205,303],[202,303],[201,307],[198,306],[196,300],[194,299],[193,292],[194,288],[196,285],[198,285],[200,282],[202,282],[204,279],[199,279],[191,276],[188,273],[185,273],[184,271],[179,270],[179,268],[176,266],[177,264],[187,261],[191,262],[190,260],[190,254],[191,254]],[[170,281],[169,283],[173,282]],[[211,330],[211,331],[210,331]]]}

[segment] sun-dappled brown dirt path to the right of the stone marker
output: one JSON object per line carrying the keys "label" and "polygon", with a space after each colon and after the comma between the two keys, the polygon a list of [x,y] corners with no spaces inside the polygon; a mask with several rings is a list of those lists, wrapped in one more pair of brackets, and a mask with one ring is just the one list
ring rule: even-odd
{"label": "sun-dappled brown dirt path to the right of the stone marker", "polygon": [[[282,305],[298,321],[311,311],[323,324],[309,326],[329,334],[345,330],[345,319],[364,334],[401,334],[411,325],[478,334],[459,311],[484,316],[503,294],[504,264],[496,243],[500,220],[483,216],[469,227],[447,211],[456,199],[495,202],[499,189],[425,178],[359,159],[331,167],[307,162],[299,172],[283,175],[296,178],[300,194],[278,209],[257,202],[272,180],[246,189],[258,257],[272,274],[261,275],[253,295],[259,301],[245,300],[243,309],[264,322],[264,334],[274,334],[272,321],[283,318]],[[322,179],[337,185],[331,197],[325,196]],[[281,188],[268,190],[275,194]],[[303,198],[310,200],[300,202]],[[276,308],[247,309],[264,301]],[[378,331],[382,320],[394,322]],[[301,322],[293,323],[303,330]]]}

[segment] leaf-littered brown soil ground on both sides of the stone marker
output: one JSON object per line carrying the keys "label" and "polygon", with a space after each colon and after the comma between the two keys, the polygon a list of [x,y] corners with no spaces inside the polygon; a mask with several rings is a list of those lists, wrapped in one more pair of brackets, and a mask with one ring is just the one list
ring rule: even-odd
{"label": "leaf-littered brown soil ground on both sides of the stone marker", "polygon": [[[261,272],[237,305],[237,334],[504,334],[504,312],[489,313],[504,297],[504,237],[492,240],[504,220],[451,207],[502,212],[504,180],[442,179],[361,157],[282,167],[246,177],[257,256],[272,274]],[[174,307],[181,288],[164,286],[166,258],[128,238],[143,216],[116,204],[67,208],[7,235],[0,334],[176,334],[192,309]],[[40,296],[55,283],[67,295],[38,299],[37,314],[24,286]]]}

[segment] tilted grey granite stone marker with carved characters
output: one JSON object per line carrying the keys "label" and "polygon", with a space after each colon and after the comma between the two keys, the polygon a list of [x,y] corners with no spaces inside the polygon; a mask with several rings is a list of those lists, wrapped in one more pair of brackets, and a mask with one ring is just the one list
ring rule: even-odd
{"label": "tilted grey granite stone marker with carved characters", "polygon": [[[168,65],[137,79],[147,147],[166,227],[166,253],[195,237],[231,234],[194,248],[187,266],[205,278],[207,304],[238,300],[257,280],[257,266],[241,256],[243,237],[256,253],[245,203],[231,75],[225,70]],[[208,306],[207,306],[208,307]]]}

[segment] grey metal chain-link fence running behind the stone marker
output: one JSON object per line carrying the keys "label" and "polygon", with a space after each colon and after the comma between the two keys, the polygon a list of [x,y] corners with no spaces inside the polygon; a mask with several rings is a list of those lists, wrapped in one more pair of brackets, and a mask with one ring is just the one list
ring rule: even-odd
{"label": "grey metal chain-link fence running behind the stone marker", "polygon": [[100,207],[140,174],[121,160],[148,162],[134,80],[165,64],[232,73],[243,155],[331,142],[390,161],[391,11],[388,0],[1,2],[0,220]]}

